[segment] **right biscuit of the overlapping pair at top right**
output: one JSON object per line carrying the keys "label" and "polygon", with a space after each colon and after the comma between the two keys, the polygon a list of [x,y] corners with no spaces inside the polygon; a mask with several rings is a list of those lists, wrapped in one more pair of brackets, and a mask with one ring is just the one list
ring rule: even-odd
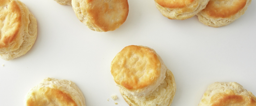
{"label": "right biscuit of the overlapping pair at top right", "polygon": [[210,0],[197,16],[205,25],[221,27],[238,19],[250,4],[251,0]]}

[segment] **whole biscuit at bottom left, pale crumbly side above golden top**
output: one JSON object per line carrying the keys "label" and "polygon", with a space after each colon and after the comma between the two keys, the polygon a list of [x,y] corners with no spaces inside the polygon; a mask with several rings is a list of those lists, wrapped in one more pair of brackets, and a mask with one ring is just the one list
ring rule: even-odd
{"label": "whole biscuit at bottom left, pale crumbly side above golden top", "polygon": [[85,106],[80,89],[69,80],[45,78],[30,89],[24,100],[25,106]]}

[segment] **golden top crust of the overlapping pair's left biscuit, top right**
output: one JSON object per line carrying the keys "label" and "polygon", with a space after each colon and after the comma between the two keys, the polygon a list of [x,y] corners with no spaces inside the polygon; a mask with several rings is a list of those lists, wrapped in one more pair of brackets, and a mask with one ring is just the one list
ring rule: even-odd
{"label": "golden top crust of the overlapping pair's left biscuit, top right", "polygon": [[155,2],[166,8],[183,8],[195,0],[155,0]]}

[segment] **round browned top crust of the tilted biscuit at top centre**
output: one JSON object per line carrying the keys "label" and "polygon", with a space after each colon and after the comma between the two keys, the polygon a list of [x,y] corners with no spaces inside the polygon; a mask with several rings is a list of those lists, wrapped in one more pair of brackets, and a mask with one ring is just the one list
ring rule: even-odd
{"label": "round browned top crust of the tilted biscuit at top centre", "polygon": [[113,31],[121,26],[129,12],[127,0],[87,0],[88,21],[102,31]]}

